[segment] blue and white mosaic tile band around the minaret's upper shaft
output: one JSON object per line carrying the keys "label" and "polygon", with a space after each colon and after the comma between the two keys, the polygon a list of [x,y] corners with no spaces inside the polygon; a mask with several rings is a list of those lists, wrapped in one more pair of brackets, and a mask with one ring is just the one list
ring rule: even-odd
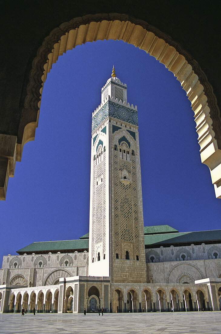
{"label": "blue and white mosaic tile band around the minaret's upper shaft", "polygon": [[95,131],[95,129],[104,120],[106,120],[108,116],[138,126],[136,110],[119,105],[112,101],[107,101],[97,114],[92,117],[92,132]]}

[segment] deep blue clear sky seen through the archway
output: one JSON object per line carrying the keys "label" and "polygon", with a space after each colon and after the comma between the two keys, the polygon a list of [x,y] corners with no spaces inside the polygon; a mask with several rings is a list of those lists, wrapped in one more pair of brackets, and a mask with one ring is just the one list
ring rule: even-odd
{"label": "deep blue clear sky seen through the archway", "polygon": [[77,239],[89,231],[91,118],[113,64],[138,110],[144,226],[220,228],[221,200],[201,163],[193,111],[179,81],[133,45],[97,41],[59,57],[48,74],[35,141],[24,146],[0,202],[0,259],[34,241]]}

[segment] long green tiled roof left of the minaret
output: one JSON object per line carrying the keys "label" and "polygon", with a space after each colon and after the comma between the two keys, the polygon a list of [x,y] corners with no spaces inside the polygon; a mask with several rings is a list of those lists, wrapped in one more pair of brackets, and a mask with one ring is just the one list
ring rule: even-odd
{"label": "long green tiled roof left of the minaret", "polygon": [[24,253],[39,253],[39,252],[52,252],[52,251],[66,251],[77,249],[88,249],[89,240],[61,240],[61,241],[41,241],[33,242],[30,245],[19,249],[18,254]]}

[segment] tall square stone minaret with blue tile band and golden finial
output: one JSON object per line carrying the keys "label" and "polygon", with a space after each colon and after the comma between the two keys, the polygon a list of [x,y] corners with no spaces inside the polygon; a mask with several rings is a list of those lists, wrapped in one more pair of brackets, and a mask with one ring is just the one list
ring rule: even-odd
{"label": "tall square stone minaret with blue tile band and golden finial", "polygon": [[137,108],[126,90],[113,67],[92,115],[89,276],[145,283]]}

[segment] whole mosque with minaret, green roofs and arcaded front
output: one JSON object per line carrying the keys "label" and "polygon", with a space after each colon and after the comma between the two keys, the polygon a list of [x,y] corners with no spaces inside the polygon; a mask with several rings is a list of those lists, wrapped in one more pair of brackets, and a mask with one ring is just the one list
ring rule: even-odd
{"label": "whole mosque with minaret, green roofs and arcaded front", "polygon": [[144,226],[137,107],[115,75],[92,114],[89,233],[3,257],[0,313],[221,309],[221,230]]}

